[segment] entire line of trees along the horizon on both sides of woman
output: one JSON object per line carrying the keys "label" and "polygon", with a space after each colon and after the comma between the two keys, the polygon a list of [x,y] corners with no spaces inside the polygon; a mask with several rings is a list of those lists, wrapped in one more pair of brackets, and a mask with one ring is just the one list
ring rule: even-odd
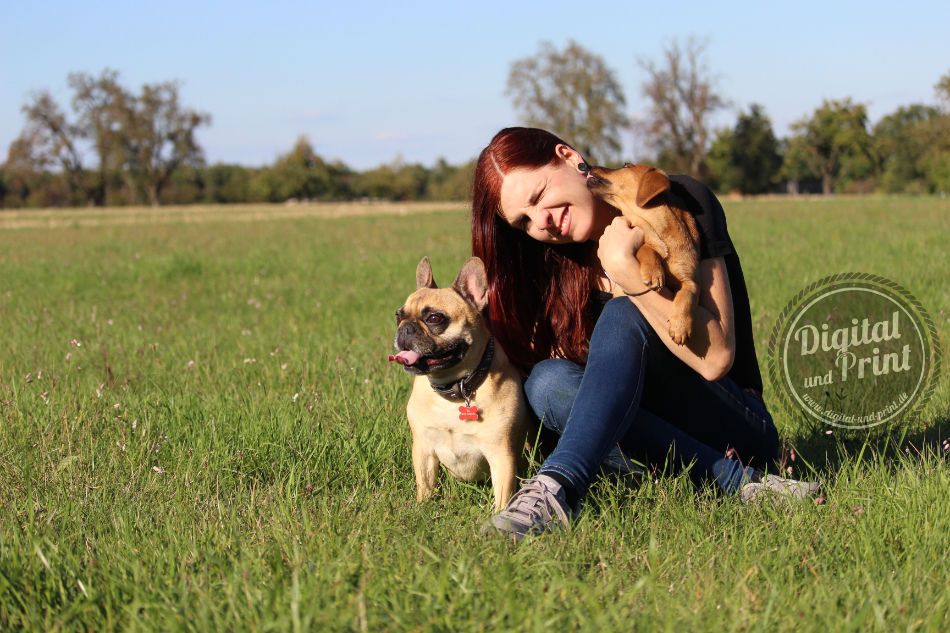
{"label": "entire line of trees along the horizon on both sides of woman", "polygon": [[[512,62],[506,93],[520,122],[547,128],[593,162],[626,160],[696,176],[720,192],[950,192],[950,73],[936,101],[871,125],[867,106],[828,99],[778,138],[763,106],[713,129],[730,107],[705,43],[672,42],[639,64],[644,114],[627,114],[616,72],[569,41]],[[207,165],[196,131],[211,123],[181,103],[176,82],[123,86],[118,73],[68,77],[69,108],[47,92],[23,106],[25,125],[0,165],[0,208],[340,200],[465,200],[473,161],[402,159],[355,170],[321,157],[306,137],[263,167]],[[642,147],[623,156],[630,135]]]}

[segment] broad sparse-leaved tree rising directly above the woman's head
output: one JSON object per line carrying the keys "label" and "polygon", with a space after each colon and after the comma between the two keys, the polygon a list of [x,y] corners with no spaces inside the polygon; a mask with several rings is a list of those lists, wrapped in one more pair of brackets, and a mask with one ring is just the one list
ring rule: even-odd
{"label": "broad sparse-leaved tree rising directly above the woman's head", "polygon": [[603,58],[577,42],[564,50],[542,42],[537,55],[512,62],[505,92],[526,125],[554,132],[587,160],[619,158],[629,125],[623,89]]}

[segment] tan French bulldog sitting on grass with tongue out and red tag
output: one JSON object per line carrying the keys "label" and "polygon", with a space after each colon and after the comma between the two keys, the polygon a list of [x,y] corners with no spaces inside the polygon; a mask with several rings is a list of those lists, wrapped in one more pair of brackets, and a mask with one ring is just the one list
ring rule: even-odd
{"label": "tan French bulldog sitting on grass with tongue out and red tag", "polygon": [[487,293],[485,265],[477,257],[445,289],[436,286],[423,257],[416,291],[396,311],[397,353],[389,360],[416,376],[406,416],[419,502],[435,491],[440,464],[464,481],[490,475],[495,511],[515,492],[528,408],[520,375],[482,317]]}

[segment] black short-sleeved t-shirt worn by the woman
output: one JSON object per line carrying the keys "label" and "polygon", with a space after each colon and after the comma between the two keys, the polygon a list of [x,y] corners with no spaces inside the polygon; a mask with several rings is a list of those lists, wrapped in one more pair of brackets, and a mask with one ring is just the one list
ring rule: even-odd
{"label": "black short-sleeved t-shirt worn by the woman", "polygon": [[[752,388],[762,393],[762,375],[755,355],[755,341],[752,338],[752,312],[749,308],[749,293],[745,287],[745,277],[739,264],[732,238],[726,227],[726,214],[722,205],[709,187],[689,176],[670,176],[670,193],[676,196],[687,211],[696,218],[699,229],[699,259],[722,257],[729,275],[732,289],[732,311],[736,331],[736,355],[732,369],[727,374],[743,388]],[[604,304],[611,299],[606,292],[596,292],[591,308],[594,317],[600,316]]]}

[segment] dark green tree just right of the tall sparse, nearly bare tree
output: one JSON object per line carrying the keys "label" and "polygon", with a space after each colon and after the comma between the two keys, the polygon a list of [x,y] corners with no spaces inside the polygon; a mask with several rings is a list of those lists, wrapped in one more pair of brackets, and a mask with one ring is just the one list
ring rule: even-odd
{"label": "dark green tree just right of the tall sparse, nearly bare tree", "polygon": [[709,167],[721,189],[765,193],[776,183],[782,156],[772,122],[752,104],[740,112],[734,128],[722,130],[709,150]]}

